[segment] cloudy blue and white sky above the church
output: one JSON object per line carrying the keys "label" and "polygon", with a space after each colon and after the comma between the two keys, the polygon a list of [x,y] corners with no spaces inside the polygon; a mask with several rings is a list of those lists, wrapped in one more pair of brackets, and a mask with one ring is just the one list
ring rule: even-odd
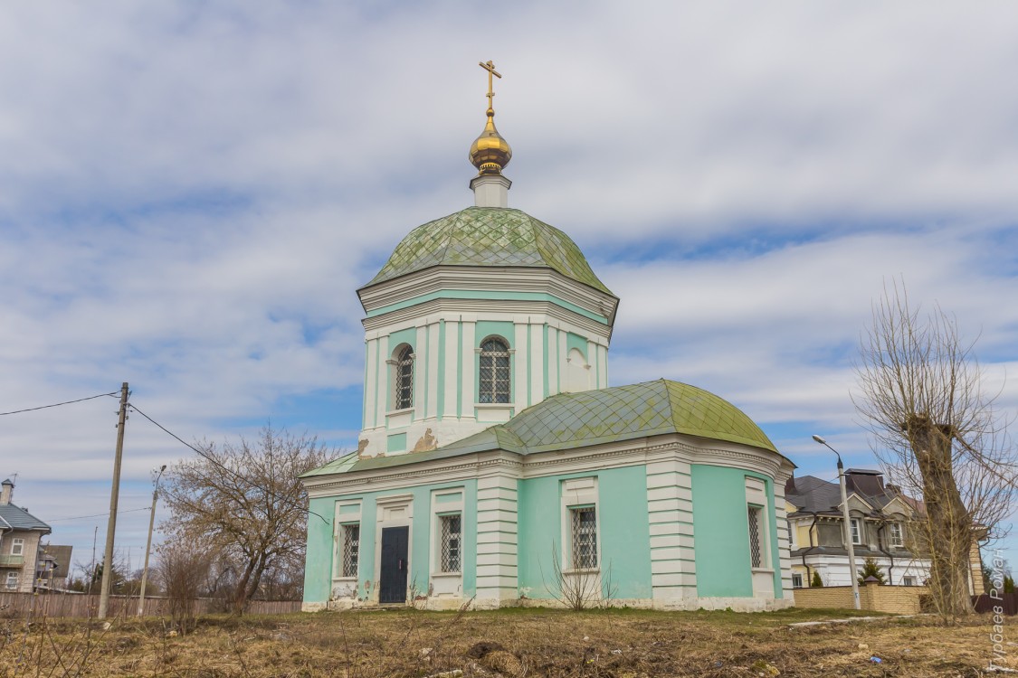
{"label": "cloudy blue and white sky above the church", "polygon": [[[6,3],[0,412],[128,381],[185,440],[271,421],[355,444],[354,290],[472,204],[488,59],[510,204],[622,300],[613,384],[714,390],[799,474],[834,477],[812,433],[872,467],[852,364],[899,279],[1018,412],[1018,6],[939,5]],[[0,418],[15,503],[79,562],[115,411]],[[132,566],[150,470],[187,454],[128,423]]]}

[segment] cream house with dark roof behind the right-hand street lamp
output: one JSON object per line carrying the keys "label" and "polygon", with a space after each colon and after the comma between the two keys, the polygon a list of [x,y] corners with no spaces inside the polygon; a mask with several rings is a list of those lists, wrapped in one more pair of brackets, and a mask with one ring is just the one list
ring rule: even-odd
{"label": "cream house with dark roof behind the right-hand street lamp", "polygon": [[[845,472],[850,534],[856,567],[873,558],[894,585],[922,585],[929,577],[929,560],[915,547],[916,521],[922,502],[885,484],[879,471],[849,469]],[[789,479],[785,486],[792,555],[792,585],[809,587],[818,573],[826,587],[850,585],[848,550],[844,540],[841,488],[837,480],[813,476]],[[978,546],[973,545],[974,563],[969,585],[982,593]]]}

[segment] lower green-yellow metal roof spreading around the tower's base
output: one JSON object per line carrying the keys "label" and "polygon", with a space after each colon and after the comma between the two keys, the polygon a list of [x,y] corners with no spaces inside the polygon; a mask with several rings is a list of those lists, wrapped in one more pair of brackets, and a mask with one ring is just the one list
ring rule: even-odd
{"label": "lower green-yellow metal roof spreading around the tower's base", "polygon": [[560,393],[527,408],[505,424],[431,451],[367,459],[346,456],[305,476],[369,471],[492,449],[531,454],[668,433],[778,452],[764,431],[728,400],[696,386],[659,379]]}

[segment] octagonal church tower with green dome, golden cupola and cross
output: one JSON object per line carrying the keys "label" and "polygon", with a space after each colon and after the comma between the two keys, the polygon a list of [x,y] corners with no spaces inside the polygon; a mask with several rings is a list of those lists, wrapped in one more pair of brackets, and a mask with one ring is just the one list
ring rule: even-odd
{"label": "octagonal church tower with green dome, golden cupola and cross", "polygon": [[365,318],[361,457],[420,452],[549,395],[608,386],[618,298],[562,231],[508,206],[495,127],[470,147],[474,206],[412,230],[357,291]]}

